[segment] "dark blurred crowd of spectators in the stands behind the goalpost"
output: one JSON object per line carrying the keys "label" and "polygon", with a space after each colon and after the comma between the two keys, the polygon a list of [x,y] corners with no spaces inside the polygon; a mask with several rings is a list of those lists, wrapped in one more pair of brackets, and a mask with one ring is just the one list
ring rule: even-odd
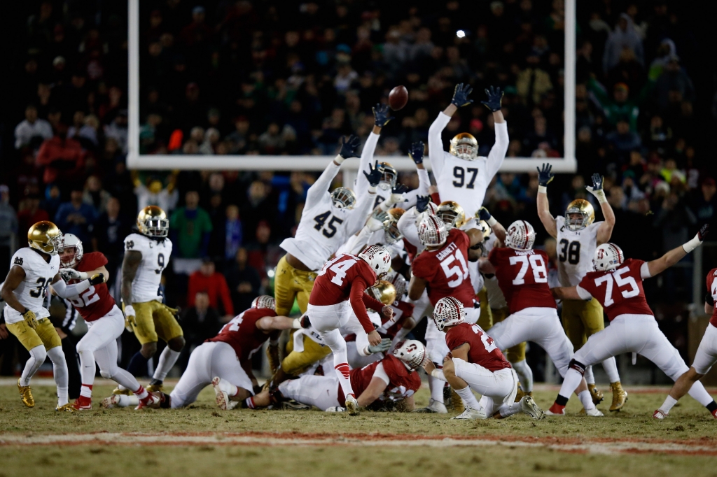
{"label": "dark blurred crowd of spectators in the stands behind the goalpost", "polygon": [[[138,208],[156,204],[171,216],[175,242],[166,299],[185,308],[190,344],[271,293],[277,244],[295,232],[315,175],[212,173],[201,164],[127,170],[126,3],[12,8],[26,22],[9,29],[20,47],[6,62],[13,84],[0,118],[1,273],[24,231],[43,219],[102,251],[115,273]],[[574,198],[592,200],[586,180],[604,174],[613,241],[640,259],[682,244],[717,212],[714,54],[710,32],[695,28],[687,8],[578,2],[579,170],[551,184],[551,208],[561,214]],[[467,82],[476,101],[452,118],[445,143],[467,131],[488,153],[493,118],[480,99],[496,85],[505,90],[508,156],[536,165],[562,156],[562,0],[147,0],[140,34],[143,154],[333,155],[342,135],[365,140],[371,107],[405,85],[408,105],[376,152],[404,155],[426,140],[455,84]],[[401,180],[417,185],[412,173]],[[531,221],[554,253],[539,225],[537,186],[535,173],[500,173],[486,206],[503,223]],[[648,297],[658,307],[690,302],[691,280],[689,264],[678,266],[646,284]],[[675,310],[672,322],[684,305]],[[679,321],[665,326],[684,350]]]}

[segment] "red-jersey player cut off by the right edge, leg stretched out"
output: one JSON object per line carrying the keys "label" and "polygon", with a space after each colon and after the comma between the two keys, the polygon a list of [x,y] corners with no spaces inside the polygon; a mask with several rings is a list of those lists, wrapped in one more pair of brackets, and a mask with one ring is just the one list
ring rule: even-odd
{"label": "red-jersey player cut off by the right edge, leg stretched out", "polygon": [[[695,359],[690,369],[683,373],[678,380],[675,381],[668,397],[663,405],[657,408],[652,417],[655,419],[664,419],[670,413],[670,410],[677,404],[680,397],[687,394],[691,387],[706,375],[711,367],[717,362],[717,307],[715,300],[717,299],[717,269],[711,269],[707,274],[707,294],[705,295],[705,313],[711,315],[710,322],[707,324],[705,334],[702,337],[700,346],[695,353]],[[707,405],[707,409],[717,418],[717,405],[714,403]]]}

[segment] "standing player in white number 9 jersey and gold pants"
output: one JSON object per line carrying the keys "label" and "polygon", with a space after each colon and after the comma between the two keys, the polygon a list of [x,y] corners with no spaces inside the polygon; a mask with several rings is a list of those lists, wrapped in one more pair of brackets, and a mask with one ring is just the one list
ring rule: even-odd
{"label": "standing player in white number 9 jersey and gold pants", "polygon": [[[160,291],[162,271],[172,253],[168,233],[166,213],[157,206],[146,206],[137,216],[135,231],[125,238],[125,257],[122,261],[123,311],[142,345],[141,350],[130,359],[127,370],[134,376],[146,372],[148,360],[157,352],[158,340],[161,338],[167,344],[147,386],[149,392],[162,390],[164,378],[184,347],[184,332],[174,316],[176,310],[162,303]],[[132,394],[122,385],[115,392]]]}

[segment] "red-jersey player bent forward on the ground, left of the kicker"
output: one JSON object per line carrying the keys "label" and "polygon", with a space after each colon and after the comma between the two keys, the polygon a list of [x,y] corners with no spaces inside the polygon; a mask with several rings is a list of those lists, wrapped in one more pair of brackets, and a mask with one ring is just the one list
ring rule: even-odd
{"label": "red-jersey player bent forward on the ground, left of the kicker", "polygon": [[[277,317],[272,297],[263,295],[247,309],[225,324],[214,338],[209,338],[189,356],[189,363],[171,394],[161,393],[162,408],[182,408],[196,401],[199,392],[214,385],[217,405],[224,410],[254,394],[251,356],[267,339],[277,341],[282,329],[295,326],[294,320]],[[134,405],[137,398],[112,395],[103,401],[108,408]]]}

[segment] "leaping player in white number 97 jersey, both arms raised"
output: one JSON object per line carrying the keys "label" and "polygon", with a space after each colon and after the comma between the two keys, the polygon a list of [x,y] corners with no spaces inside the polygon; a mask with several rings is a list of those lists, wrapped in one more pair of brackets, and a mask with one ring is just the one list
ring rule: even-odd
{"label": "leaping player in white number 97 jersey, both arms raised", "polygon": [[493,111],[495,121],[495,144],[488,157],[478,156],[478,141],[468,133],[456,135],[450,142],[449,152],[443,150],[441,132],[459,107],[473,102],[468,99],[472,91],[469,85],[457,85],[451,104],[438,113],[428,130],[428,157],[441,200],[460,203],[468,217],[475,216],[483,205],[490,180],[500,169],[508,152],[508,125],[500,111],[503,92],[492,86],[490,90],[485,90],[488,101],[482,101]]}

